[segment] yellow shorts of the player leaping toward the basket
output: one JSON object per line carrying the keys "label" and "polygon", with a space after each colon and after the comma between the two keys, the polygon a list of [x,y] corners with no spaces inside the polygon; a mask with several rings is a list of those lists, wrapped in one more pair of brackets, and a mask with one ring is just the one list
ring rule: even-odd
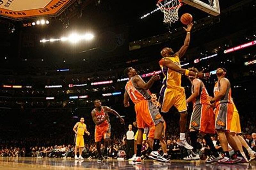
{"label": "yellow shorts of the player leaping toward the basket", "polygon": [[179,112],[187,111],[186,94],[183,87],[162,87],[159,102],[162,104],[161,111],[164,113],[169,112],[172,106],[176,107]]}

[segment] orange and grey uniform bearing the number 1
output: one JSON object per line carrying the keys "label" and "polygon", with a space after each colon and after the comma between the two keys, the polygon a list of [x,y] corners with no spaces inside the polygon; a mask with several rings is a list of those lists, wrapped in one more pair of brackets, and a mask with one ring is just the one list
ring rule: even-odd
{"label": "orange and grey uniform bearing the number 1", "polygon": [[[151,101],[150,91],[137,87],[132,77],[125,85],[125,91],[135,104],[136,121],[138,128],[146,128],[164,122],[158,109]],[[143,80],[142,80],[143,81]]]}

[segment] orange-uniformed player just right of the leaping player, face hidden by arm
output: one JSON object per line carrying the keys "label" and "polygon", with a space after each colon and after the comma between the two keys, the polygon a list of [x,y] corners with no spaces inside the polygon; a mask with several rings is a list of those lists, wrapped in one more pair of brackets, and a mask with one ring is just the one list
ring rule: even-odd
{"label": "orange-uniformed player just right of the leaping player, face hidden by arm", "polygon": [[[194,67],[189,68],[189,71],[198,72]],[[207,108],[210,106],[210,101],[208,100],[208,92],[204,86],[204,83],[199,78],[195,76],[188,76],[192,86],[192,94],[186,100],[187,103],[193,102],[193,112],[190,119],[189,131],[191,145],[193,146],[192,152],[184,160],[197,160],[200,159],[199,154],[196,153],[196,143],[197,143],[197,132],[201,133],[206,141],[206,144],[210,147],[212,152],[211,161],[217,161],[222,158],[222,156],[216,150],[212,139],[209,134],[215,134],[215,118],[213,114],[213,109]],[[208,162],[208,160],[206,160]]]}

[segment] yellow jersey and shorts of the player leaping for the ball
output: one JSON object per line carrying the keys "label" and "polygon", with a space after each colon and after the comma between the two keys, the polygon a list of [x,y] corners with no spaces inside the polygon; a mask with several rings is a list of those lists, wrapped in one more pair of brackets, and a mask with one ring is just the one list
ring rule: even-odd
{"label": "yellow jersey and shorts of the player leaping for the ball", "polygon": [[[180,58],[177,55],[165,58],[172,60],[180,67]],[[159,95],[159,102],[162,104],[161,111],[167,113],[172,106],[176,107],[179,112],[187,111],[185,90],[181,87],[181,74],[163,65],[160,67],[164,74],[163,86]]]}

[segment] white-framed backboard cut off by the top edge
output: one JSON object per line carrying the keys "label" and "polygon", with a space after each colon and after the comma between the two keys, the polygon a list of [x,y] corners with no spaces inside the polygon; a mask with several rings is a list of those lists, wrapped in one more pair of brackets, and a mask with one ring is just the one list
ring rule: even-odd
{"label": "white-framed backboard cut off by the top edge", "polygon": [[211,15],[220,15],[219,0],[181,0],[182,3],[191,5]]}

